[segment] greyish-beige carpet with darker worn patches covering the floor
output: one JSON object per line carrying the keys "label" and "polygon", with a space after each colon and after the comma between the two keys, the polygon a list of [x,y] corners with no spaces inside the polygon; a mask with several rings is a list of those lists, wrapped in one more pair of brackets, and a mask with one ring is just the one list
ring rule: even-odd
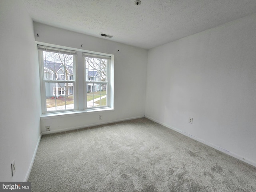
{"label": "greyish-beige carpet with darker worn patches covering the floor", "polygon": [[256,168],[146,118],[42,136],[32,192],[256,192]]}

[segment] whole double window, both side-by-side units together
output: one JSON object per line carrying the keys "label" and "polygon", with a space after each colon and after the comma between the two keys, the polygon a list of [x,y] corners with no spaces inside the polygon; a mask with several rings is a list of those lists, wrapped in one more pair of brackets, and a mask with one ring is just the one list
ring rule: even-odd
{"label": "whole double window, both side-by-side units together", "polygon": [[42,114],[113,109],[114,56],[38,45],[38,58]]}

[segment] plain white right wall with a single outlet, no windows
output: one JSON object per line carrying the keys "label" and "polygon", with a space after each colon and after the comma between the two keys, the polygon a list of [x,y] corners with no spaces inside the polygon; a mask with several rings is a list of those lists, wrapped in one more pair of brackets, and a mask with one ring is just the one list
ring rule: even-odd
{"label": "plain white right wall with a single outlet, no windows", "polygon": [[256,14],[149,50],[145,114],[256,166]]}

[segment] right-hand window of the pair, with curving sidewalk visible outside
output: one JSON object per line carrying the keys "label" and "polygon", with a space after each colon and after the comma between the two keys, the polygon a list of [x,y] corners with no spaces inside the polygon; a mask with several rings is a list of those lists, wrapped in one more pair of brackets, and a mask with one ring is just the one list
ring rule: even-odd
{"label": "right-hand window of the pair, with curving sidewalk visible outside", "polygon": [[[86,81],[86,108],[108,107],[110,56],[83,53]],[[90,78],[92,77],[92,78]],[[100,84],[99,84],[100,82]]]}

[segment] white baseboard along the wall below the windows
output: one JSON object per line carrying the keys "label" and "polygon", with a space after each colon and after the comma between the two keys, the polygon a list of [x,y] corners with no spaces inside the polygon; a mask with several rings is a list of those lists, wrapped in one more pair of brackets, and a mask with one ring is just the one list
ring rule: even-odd
{"label": "white baseboard along the wall below the windows", "polygon": [[126,120],[132,120],[132,119],[138,119],[138,118],[143,118],[143,117],[145,117],[145,116],[143,115],[143,116],[125,118],[125,119],[120,119],[120,120],[107,121],[107,122],[102,122],[102,123],[88,124],[88,125],[84,125],[84,126],[78,126],[78,127],[72,127],[72,128],[66,128],[66,129],[52,130],[52,131],[47,131],[47,132],[45,131],[45,132],[42,132],[42,135],[65,132],[65,131],[71,131],[71,130],[86,128],[86,127],[91,127],[91,126],[104,125],[104,124],[115,123],[115,122],[126,121]]}

